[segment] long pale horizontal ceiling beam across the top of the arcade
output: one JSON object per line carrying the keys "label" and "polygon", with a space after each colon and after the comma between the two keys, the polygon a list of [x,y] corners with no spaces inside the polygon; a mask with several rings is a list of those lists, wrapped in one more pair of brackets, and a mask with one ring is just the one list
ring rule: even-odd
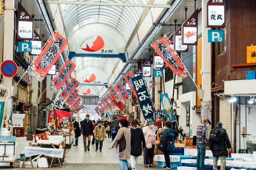
{"label": "long pale horizontal ceiling beam across the top of the arcade", "polygon": [[129,6],[129,7],[149,7],[149,8],[171,8],[168,4],[140,4],[140,3],[100,3],[100,2],[81,2],[65,0],[48,0],[53,4],[71,4],[71,5],[92,5],[92,6]]}

